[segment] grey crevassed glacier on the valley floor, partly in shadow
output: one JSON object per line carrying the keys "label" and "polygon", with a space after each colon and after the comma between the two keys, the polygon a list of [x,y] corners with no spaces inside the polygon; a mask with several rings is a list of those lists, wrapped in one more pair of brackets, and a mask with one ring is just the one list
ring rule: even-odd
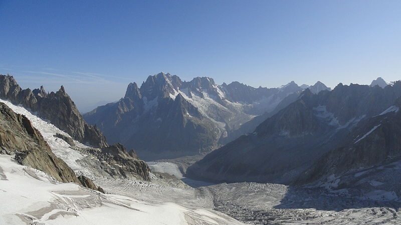
{"label": "grey crevassed glacier on the valley floor, partly in shadow", "polygon": [[[173,162],[154,161],[149,165],[152,169],[170,172],[182,179],[178,165]],[[193,191],[193,188],[190,189]],[[210,202],[206,199],[209,198],[213,201],[213,209],[248,224],[401,223],[401,202],[392,198],[392,193],[388,191],[373,196],[370,192],[365,195],[351,189],[249,182],[209,183],[195,190],[189,195],[202,195],[200,198],[208,206]]]}

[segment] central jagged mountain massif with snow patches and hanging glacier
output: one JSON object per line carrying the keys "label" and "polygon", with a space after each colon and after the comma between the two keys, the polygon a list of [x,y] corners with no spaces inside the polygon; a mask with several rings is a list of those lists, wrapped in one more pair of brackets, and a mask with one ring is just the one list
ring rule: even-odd
{"label": "central jagged mountain massif with snow patches and hanging glacier", "polygon": [[118,102],[99,106],[84,118],[111,143],[135,148],[141,158],[193,155],[226,143],[241,124],[300,90],[295,82],[255,88],[239,82],[217,85],[210,77],[182,81],[161,72],[140,87],[130,83]]}

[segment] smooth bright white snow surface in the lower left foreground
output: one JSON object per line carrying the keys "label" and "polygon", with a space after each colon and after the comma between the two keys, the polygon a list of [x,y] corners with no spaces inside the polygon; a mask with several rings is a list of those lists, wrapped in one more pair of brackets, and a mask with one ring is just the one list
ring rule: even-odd
{"label": "smooth bright white snow surface in the lower left foreground", "polygon": [[60,183],[9,155],[0,155],[0,177],[0,224],[242,224],[212,209]]}

